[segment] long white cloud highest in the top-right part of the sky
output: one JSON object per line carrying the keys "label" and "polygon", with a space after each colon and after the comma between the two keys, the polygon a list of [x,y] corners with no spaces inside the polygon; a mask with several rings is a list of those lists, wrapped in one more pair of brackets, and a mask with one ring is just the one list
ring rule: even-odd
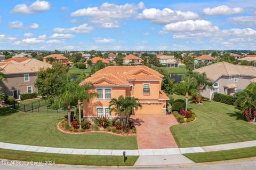
{"label": "long white cloud highest in the top-right part of the sky", "polygon": [[244,9],[242,7],[231,8],[227,5],[220,5],[214,8],[207,7],[203,10],[205,15],[228,15],[242,13]]}

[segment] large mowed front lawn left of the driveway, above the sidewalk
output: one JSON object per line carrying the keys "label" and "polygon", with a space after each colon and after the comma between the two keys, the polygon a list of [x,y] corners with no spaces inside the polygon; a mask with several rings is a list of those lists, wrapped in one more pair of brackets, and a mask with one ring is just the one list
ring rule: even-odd
{"label": "large mowed front lawn left of the driveway, above the sidewalk", "polygon": [[57,124],[65,114],[23,113],[0,108],[0,141],[44,147],[137,149],[136,136],[107,133],[67,134]]}

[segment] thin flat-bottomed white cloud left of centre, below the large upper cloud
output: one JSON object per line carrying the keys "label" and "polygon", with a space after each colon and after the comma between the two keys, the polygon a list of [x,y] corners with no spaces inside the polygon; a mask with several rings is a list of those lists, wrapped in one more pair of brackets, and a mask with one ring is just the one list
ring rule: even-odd
{"label": "thin flat-bottomed white cloud left of centre, below the large upper cloud", "polygon": [[56,33],[90,33],[94,28],[84,23],[81,26],[72,28],[54,28],[53,31]]}

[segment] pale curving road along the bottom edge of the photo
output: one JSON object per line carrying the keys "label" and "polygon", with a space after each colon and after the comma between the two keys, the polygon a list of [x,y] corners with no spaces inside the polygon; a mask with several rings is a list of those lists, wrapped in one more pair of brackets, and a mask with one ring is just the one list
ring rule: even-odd
{"label": "pale curving road along the bottom edge of the photo", "polygon": [[[19,162],[21,163],[27,163],[27,162]],[[171,165],[171,166],[157,166],[157,167],[104,167],[104,166],[76,166],[76,165],[52,165],[52,166],[46,166],[46,165],[0,165],[0,169],[5,170],[81,170],[81,169],[178,169],[178,170],[226,170],[226,169],[232,169],[232,170],[241,170],[241,169],[248,169],[248,170],[254,170],[256,167],[256,157],[249,158],[249,159],[243,159],[243,160],[231,160],[231,161],[222,161],[219,163],[202,163],[202,164],[190,164],[190,165]]]}

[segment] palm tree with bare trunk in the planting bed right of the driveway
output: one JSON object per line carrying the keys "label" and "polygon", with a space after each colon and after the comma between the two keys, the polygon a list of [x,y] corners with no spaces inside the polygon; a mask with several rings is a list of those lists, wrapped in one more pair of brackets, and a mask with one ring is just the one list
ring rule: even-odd
{"label": "palm tree with bare trunk in the planting bed right of the driveway", "polygon": [[197,82],[194,77],[191,77],[190,75],[187,77],[182,77],[181,79],[181,85],[186,91],[186,111],[188,111],[188,94],[193,94],[197,95],[198,90],[197,90]]}

